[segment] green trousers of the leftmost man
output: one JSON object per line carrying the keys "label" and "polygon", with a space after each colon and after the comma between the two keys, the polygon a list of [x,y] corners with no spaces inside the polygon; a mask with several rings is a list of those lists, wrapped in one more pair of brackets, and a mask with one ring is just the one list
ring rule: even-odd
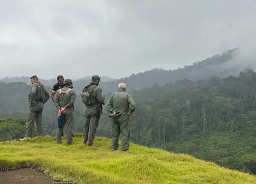
{"label": "green trousers of the leftmost man", "polygon": [[43,136],[43,123],[42,123],[42,112],[44,110],[44,104],[38,102],[34,106],[29,106],[28,109],[28,120],[26,122],[26,138],[33,137],[33,127],[36,122],[37,136]]}

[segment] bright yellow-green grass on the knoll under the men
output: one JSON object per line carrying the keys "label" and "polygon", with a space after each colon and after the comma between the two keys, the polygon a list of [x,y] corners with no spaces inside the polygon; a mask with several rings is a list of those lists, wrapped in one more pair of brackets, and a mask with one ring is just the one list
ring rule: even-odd
{"label": "bright yellow-green grass on the knoll under the men", "polygon": [[131,144],[126,153],[111,152],[110,140],[95,138],[83,145],[77,134],[71,146],[55,138],[33,138],[0,143],[0,167],[41,166],[56,180],[76,183],[218,183],[253,184],[255,176],[231,171],[189,155]]}

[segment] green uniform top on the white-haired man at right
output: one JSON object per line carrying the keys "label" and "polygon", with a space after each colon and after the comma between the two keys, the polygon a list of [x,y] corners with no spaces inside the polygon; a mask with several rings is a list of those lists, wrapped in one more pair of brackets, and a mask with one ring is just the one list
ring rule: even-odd
{"label": "green uniform top on the white-haired man at right", "polygon": [[106,110],[109,113],[133,113],[135,111],[135,102],[130,94],[123,91],[112,94],[106,104]]}

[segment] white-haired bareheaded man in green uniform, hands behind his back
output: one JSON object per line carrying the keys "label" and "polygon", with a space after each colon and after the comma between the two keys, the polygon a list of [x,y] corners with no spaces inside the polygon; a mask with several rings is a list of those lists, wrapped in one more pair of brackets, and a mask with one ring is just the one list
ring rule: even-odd
{"label": "white-haired bareheaded man in green uniform, hands behind his back", "polygon": [[118,85],[118,92],[112,94],[106,104],[106,110],[109,112],[109,117],[113,118],[112,124],[112,150],[118,149],[118,139],[122,141],[121,151],[125,152],[129,149],[130,129],[129,119],[135,111],[135,102],[132,96],[125,92],[125,83]]}

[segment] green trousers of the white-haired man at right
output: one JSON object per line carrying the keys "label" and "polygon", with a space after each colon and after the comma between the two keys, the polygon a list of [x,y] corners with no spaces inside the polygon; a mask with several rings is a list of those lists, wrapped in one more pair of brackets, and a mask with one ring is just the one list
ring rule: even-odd
{"label": "green trousers of the white-haired man at right", "polygon": [[130,145],[130,129],[129,117],[126,113],[122,113],[118,117],[113,117],[112,133],[111,133],[111,147],[112,150],[118,149],[118,141],[121,139],[121,151],[127,151]]}

